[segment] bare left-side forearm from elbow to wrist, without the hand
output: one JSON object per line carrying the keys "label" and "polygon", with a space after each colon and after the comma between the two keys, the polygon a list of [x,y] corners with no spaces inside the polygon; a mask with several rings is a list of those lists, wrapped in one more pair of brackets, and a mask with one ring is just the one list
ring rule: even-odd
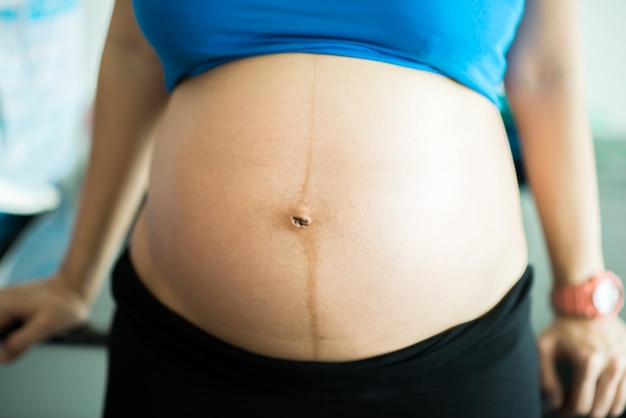
{"label": "bare left-side forearm from elbow to wrist, without the hand", "polygon": [[158,64],[136,52],[115,43],[103,51],[89,165],[61,266],[88,300],[97,294],[145,193],[151,131],[165,102]]}

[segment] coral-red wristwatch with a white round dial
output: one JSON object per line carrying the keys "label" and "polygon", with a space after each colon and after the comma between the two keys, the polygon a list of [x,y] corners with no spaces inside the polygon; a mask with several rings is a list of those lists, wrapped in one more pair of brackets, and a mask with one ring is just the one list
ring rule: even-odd
{"label": "coral-red wristwatch with a white round dial", "polygon": [[615,273],[603,271],[579,285],[554,287],[552,306],[559,315],[612,318],[624,306],[624,286]]}

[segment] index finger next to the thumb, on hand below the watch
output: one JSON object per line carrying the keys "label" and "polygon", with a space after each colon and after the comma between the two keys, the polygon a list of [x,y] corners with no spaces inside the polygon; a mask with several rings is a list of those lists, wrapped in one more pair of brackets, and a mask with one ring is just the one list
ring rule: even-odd
{"label": "index finger next to the thumb, on hand below the watch", "polygon": [[568,412],[589,415],[604,364],[603,356],[598,353],[588,354],[576,361],[572,376],[572,396],[566,408]]}

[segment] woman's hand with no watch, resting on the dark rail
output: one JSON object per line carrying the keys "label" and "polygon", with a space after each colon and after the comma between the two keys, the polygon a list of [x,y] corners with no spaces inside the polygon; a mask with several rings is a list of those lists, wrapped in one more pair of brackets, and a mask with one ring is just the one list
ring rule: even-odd
{"label": "woman's hand with no watch, resting on the dark rail", "polygon": [[87,321],[88,302],[62,277],[0,290],[0,331],[19,328],[0,341],[0,363],[9,363],[34,344]]}

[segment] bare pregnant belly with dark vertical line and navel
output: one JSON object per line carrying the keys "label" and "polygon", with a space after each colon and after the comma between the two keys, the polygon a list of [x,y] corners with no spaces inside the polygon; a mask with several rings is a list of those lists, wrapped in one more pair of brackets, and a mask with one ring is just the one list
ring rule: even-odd
{"label": "bare pregnant belly with dark vertical line and navel", "polygon": [[433,73],[278,54],[182,83],[131,255],[165,305],[240,348],[341,361],[493,307],[526,242],[498,109]]}

